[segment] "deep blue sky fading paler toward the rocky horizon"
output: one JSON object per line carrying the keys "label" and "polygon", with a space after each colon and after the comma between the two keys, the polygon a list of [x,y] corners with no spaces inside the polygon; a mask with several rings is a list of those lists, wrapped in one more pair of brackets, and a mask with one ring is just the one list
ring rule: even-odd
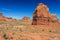
{"label": "deep blue sky fading paler toward the rocky horizon", "polygon": [[47,5],[50,13],[56,14],[60,19],[60,0],[0,0],[0,12],[5,17],[21,19],[27,16],[32,18],[39,3]]}

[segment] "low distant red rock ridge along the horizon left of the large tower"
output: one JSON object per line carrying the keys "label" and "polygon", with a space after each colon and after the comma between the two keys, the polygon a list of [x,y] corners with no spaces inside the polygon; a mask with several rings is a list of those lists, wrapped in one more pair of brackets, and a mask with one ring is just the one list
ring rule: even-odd
{"label": "low distant red rock ridge along the horizon left of the large tower", "polygon": [[21,20],[15,20],[13,18],[4,17],[2,13],[0,13],[0,21],[14,22],[14,21],[22,21],[22,22],[31,22],[29,17],[23,17]]}

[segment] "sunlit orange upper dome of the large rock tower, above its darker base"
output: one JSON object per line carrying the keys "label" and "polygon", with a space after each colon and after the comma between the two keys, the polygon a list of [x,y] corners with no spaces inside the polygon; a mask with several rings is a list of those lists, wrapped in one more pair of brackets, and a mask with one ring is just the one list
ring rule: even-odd
{"label": "sunlit orange upper dome of the large rock tower, above its darker base", "polygon": [[37,8],[36,8],[36,11],[37,11],[37,16],[44,16],[44,17],[50,17],[50,12],[49,12],[49,9],[46,5],[40,3]]}

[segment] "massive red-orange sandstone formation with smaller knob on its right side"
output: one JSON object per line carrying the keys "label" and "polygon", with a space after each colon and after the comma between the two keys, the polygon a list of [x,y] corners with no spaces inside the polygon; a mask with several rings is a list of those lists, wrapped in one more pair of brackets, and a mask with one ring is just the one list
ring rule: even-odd
{"label": "massive red-orange sandstone formation with smaller knob on its right side", "polygon": [[33,14],[32,25],[49,25],[52,23],[58,23],[56,15],[51,15],[49,8],[43,3],[40,3]]}

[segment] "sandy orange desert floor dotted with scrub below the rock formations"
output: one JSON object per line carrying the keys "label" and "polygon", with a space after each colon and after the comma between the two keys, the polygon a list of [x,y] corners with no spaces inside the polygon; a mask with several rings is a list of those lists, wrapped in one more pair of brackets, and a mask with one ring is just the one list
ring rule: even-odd
{"label": "sandy orange desert floor dotted with scrub below the rock formations", "polygon": [[0,40],[60,40],[60,25],[0,21]]}

